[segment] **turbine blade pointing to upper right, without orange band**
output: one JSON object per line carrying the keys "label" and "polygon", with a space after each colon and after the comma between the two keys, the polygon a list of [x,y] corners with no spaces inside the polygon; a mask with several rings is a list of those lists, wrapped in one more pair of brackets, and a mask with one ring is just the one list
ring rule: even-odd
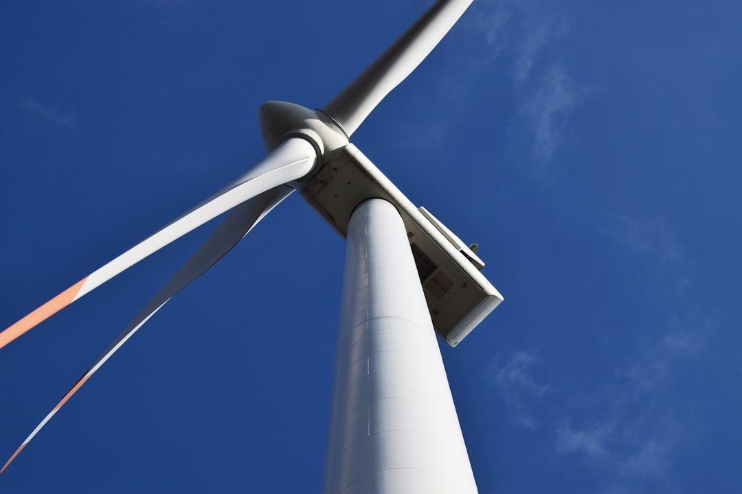
{"label": "turbine blade pointing to upper right, without orange band", "polygon": [[412,73],[456,24],[473,0],[439,0],[338,96],[322,109],[350,136],[397,85]]}

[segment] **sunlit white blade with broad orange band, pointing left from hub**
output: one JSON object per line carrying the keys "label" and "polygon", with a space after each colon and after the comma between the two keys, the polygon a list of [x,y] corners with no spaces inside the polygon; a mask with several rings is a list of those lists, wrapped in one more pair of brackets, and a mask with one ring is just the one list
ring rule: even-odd
{"label": "sunlit white blade with broad orange band, pointing left from hub", "polygon": [[231,210],[250,198],[306,176],[315,166],[317,154],[308,141],[292,138],[263,158],[248,173],[232,182],[211,198],[188,211],[153,236],[127,250],[122,255],[93,271],[58,296],[47,301],[0,333],[0,348],[9,344],[48,317],[67,307],[96,287],[110,280],[143,258],[157,252],[171,241],[184,236],[212,218]]}

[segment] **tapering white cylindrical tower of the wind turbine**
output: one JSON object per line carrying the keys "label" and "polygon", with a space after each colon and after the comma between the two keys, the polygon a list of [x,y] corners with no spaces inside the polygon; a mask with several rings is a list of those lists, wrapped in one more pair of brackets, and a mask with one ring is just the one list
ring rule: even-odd
{"label": "tapering white cylindrical tower of the wind turbine", "polygon": [[348,224],[324,494],[476,493],[407,230],[383,199]]}

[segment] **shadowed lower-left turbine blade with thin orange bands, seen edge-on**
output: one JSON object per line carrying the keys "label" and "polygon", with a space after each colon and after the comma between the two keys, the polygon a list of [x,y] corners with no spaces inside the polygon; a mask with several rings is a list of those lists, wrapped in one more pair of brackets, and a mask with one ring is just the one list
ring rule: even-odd
{"label": "shadowed lower-left turbine blade with thin orange bands, seen edge-on", "polygon": [[85,381],[93,375],[106,361],[111,358],[116,350],[119,350],[125,342],[134,335],[134,333],[142,327],[145,322],[149,320],[154,313],[167,303],[176,293],[186,287],[191,281],[206,273],[210,267],[214,266],[223,256],[226,255],[232,247],[237,245],[237,242],[241,238],[247,235],[252,230],[252,227],[257,224],[266,214],[268,214],[280,201],[288,197],[294,190],[291,187],[280,185],[267,192],[255,196],[249,201],[243,202],[243,204],[237,205],[232,211],[224,218],[220,225],[206,238],[206,241],[198,247],[196,252],[185,261],[182,267],[174,274],[172,278],[165,284],[164,287],[155,295],[151,301],[145,306],[144,309],[134,318],[133,321],[122,331],[119,336],[116,337],[113,343],[93,362],[93,365],[85,371],[85,373],[77,380],[73,387],[65,393],[59,403],[53,407],[53,409],[46,415],[36,429],[33,430],[30,435],[23,441],[23,444],[16,450],[10,459],[0,469],[0,473],[3,473],[10,463],[16,459],[19,453],[24,447],[31,441],[31,439],[42,430],[47,422],[59,411],[62,406],[67,403],[68,399],[77,392],[77,390],[85,384]]}

